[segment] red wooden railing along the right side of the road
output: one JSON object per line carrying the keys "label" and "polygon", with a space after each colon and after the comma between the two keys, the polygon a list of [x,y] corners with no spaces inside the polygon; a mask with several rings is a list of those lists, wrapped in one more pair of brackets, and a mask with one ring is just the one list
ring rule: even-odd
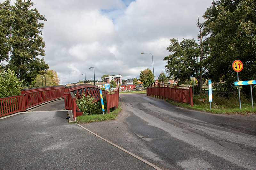
{"label": "red wooden railing along the right side of the road", "polygon": [[166,85],[154,82],[147,87],[147,96],[188,103],[193,107],[192,87]]}

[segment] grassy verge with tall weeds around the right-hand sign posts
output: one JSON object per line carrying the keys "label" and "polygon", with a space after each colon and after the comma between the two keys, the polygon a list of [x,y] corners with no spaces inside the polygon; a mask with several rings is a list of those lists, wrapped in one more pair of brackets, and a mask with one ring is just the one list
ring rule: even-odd
{"label": "grassy verge with tall weeds around the right-hand sign posts", "polygon": [[[204,101],[199,101],[199,99],[204,99]],[[236,95],[222,96],[220,94],[213,95],[212,97],[212,109],[210,110],[210,102],[208,95],[194,95],[193,107],[187,103],[175,103],[172,100],[167,100],[169,103],[179,107],[185,107],[190,109],[201,110],[205,112],[211,112],[216,114],[239,114],[239,115],[249,115],[255,114],[255,105],[252,109],[251,100],[246,98],[245,95],[241,95],[241,109],[239,108],[239,99]]]}

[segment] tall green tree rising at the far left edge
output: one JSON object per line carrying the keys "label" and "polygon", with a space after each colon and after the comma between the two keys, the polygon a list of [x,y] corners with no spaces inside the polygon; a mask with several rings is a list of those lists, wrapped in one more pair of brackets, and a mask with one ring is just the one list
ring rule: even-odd
{"label": "tall green tree rising at the far left edge", "polygon": [[44,58],[37,57],[44,56],[45,47],[41,36],[44,24],[38,20],[46,19],[30,9],[34,5],[30,0],[16,0],[14,4],[9,0],[0,4],[0,61],[9,57],[7,67],[25,84],[32,85],[36,76],[49,68]]}

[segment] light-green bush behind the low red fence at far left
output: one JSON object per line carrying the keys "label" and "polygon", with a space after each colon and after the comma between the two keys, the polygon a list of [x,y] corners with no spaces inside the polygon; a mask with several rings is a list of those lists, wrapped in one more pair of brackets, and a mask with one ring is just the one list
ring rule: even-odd
{"label": "light-green bush behind the low red fence at far left", "polygon": [[14,71],[2,70],[0,68],[0,97],[14,96],[20,94],[22,82],[18,80]]}

